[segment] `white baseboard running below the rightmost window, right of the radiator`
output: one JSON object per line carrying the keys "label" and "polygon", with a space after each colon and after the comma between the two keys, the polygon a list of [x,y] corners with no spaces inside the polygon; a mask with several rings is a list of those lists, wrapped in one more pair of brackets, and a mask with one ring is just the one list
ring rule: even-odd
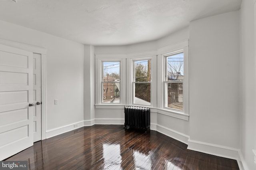
{"label": "white baseboard running below the rightmost window, right of the radiator", "polygon": [[156,125],[156,131],[169,136],[171,138],[174,138],[182,143],[188,144],[188,138],[189,136],[183,133],[180,133],[176,130],[172,130],[170,128],[164,127],[162,125]]}

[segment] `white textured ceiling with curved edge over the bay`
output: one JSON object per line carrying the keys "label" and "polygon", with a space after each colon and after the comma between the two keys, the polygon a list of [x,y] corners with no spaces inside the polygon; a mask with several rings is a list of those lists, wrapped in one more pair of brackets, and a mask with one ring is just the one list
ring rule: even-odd
{"label": "white textured ceiling with curved edge over the bay", "polygon": [[0,0],[0,20],[91,45],[157,40],[242,0]]}

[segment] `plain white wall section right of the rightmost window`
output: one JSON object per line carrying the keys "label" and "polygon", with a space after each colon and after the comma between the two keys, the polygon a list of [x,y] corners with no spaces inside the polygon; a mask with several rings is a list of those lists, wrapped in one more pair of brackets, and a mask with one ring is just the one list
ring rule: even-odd
{"label": "plain white wall section right of the rightmost window", "polygon": [[190,22],[190,140],[239,148],[238,19]]}

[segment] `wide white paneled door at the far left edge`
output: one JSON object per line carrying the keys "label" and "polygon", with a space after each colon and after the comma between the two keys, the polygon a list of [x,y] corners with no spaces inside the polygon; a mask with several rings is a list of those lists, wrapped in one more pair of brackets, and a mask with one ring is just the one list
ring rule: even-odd
{"label": "wide white paneled door at the far left edge", "polygon": [[33,53],[0,44],[0,160],[33,145]]}

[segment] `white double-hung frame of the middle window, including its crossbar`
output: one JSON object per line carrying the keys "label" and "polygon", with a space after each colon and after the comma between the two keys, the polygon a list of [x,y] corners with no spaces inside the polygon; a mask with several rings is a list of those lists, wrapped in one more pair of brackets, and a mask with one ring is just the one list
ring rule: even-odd
{"label": "white double-hung frame of the middle window, including its crossbar", "polygon": [[[141,60],[150,60],[150,81],[135,81],[135,62],[136,61],[141,61]],[[131,73],[131,104],[134,106],[145,106],[145,107],[152,107],[152,56],[150,57],[136,57],[130,60],[131,66],[132,66],[132,73]],[[146,84],[150,83],[150,105],[144,105],[144,104],[138,104],[135,103],[135,84],[140,83],[140,84]]]}

